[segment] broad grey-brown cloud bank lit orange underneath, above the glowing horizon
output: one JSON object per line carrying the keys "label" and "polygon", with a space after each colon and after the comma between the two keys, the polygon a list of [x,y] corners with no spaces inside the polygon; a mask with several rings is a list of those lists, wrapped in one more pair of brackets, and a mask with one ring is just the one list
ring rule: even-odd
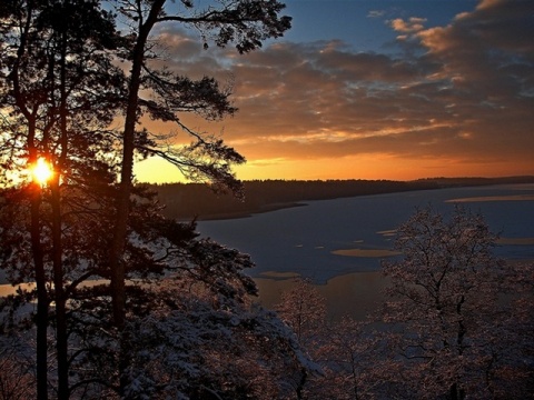
{"label": "broad grey-brown cloud bank lit orange underneath, above the glowing horizon", "polygon": [[172,69],[234,77],[239,112],[224,121],[225,139],[251,161],[380,153],[516,160],[534,173],[532,4],[485,0],[434,28],[417,16],[390,20],[404,46],[397,54],[323,41],[238,56],[204,51],[190,33],[169,29],[161,40]]}

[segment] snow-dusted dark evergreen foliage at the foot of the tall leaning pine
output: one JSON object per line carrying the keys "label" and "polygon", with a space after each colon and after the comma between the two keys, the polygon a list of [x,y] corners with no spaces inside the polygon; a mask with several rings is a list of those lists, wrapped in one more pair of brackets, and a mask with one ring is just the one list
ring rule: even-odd
{"label": "snow-dusted dark evergreen foliage at the foot of the tall leaning pine", "polygon": [[[75,297],[78,392],[128,399],[276,399],[290,393],[291,377],[315,367],[293,331],[251,302],[256,287],[243,273],[251,266],[248,256],[206,239],[172,241],[178,223],[168,231],[168,238],[146,242],[145,251],[159,254],[172,273],[130,281],[121,333],[109,326],[107,286],[80,288]],[[125,341],[127,384],[119,391]]]}

